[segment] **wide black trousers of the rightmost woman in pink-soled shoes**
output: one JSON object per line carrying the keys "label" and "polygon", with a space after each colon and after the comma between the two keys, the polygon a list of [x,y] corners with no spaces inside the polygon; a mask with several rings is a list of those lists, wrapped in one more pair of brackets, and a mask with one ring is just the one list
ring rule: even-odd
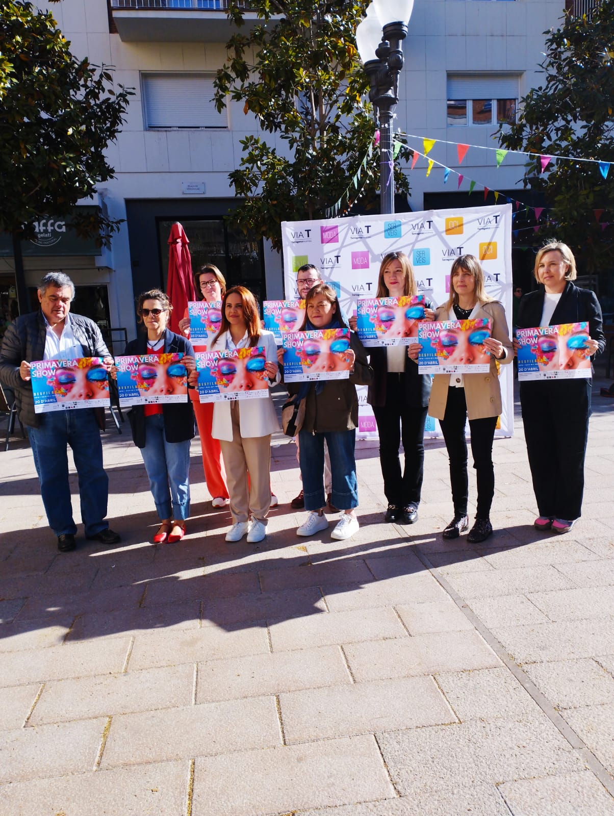
{"label": "wide black trousers of the rightmost woman in pink-soled shoes", "polygon": [[580,518],[590,379],[520,384],[524,438],[540,516]]}

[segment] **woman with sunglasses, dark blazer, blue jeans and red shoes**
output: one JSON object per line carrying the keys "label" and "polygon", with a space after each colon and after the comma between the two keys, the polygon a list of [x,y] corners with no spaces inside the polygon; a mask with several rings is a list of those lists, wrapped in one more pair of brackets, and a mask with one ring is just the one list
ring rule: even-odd
{"label": "woman with sunglasses, dark blazer, blue jeans and red shoes", "polygon": [[[159,289],[139,295],[137,313],[145,329],[126,346],[126,354],[180,353],[179,362],[168,366],[167,379],[180,379],[195,370],[194,348],[189,340],[167,329],[172,305]],[[153,379],[157,369],[150,369]],[[112,374],[113,374],[112,370]],[[156,378],[157,379],[157,378]],[[154,384],[153,388],[158,388]],[[167,392],[171,386],[164,385]],[[149,477],[149,487],[160,518],[153,543],[176,542],[185,535],[185,520],[189,517],[189,443],[194,438],[192,403],[175,402],[163,405],[132,406],[128,412],[132,439],[140,448]]]}

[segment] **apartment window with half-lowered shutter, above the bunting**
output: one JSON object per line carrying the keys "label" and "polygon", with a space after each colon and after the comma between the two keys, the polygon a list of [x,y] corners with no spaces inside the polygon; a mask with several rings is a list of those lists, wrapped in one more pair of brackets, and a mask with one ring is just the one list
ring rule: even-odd
{"label": "apartment window with half-lowered shutter, above the bunting", "polygon": [[515,122],[518,74],[448,73],[448,126]]}

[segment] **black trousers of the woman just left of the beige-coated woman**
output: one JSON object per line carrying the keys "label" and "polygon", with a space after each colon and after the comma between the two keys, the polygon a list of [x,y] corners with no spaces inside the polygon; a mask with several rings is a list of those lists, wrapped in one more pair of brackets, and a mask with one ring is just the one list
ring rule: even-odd
{"label": "black trousers of the woman just left of the beige-coated woman", "polygon": [[[427,407],[407,405],[405,375],[386,375],[386,404],[373,406],[380,435],[380,465],[384,493],[389,504],[404,507],[420,504],[425,468],[425,422]],[[401,474],[398,448],[403,440],[405,467]]]}

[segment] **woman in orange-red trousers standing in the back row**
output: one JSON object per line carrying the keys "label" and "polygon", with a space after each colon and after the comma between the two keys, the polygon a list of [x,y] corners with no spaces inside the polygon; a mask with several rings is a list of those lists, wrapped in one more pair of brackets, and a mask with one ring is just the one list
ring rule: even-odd
{"label": "woman in orange-red trousers standing in the back row", "polygon": [[[207,303],[220,303],[226,292],[226,281],[224,275],[214,264],[204,264],[194,273],[194,290],[198,300],[206,300]],[[218,326],[221,325],[221,312],[219,316],[214,315]],[[219,320],[217,318],[219,317]],[[186,309],[184,317],[179,322],[180,331],[189,338],[189,316]],[[194,343],[195,352],[206,352],[207,343]],[[229,492],[226,486],[226,472],[220,441],[211,437],[211,426],[213,424],[213,403],[201,402],[198,399],[198,389],[190,389],[189,397],[192,400],[192,407],[196,415],[198,425],[198,436],[202,450],[202,469],[205,472],[207,490],[211,494],[211,504],[214,508],[224,508],[229,503]]]}

